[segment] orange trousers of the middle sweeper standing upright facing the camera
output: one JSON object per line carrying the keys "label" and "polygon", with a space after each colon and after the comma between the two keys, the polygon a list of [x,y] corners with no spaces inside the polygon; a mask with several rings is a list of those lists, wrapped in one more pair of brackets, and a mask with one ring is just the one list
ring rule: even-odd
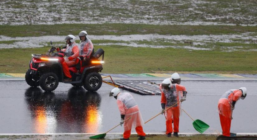
{"label": "orange trousers of the middle sweeper standing upright facing the camera", "polygon": [[[172,133],[172,132],[179,132],[178,126],[179,126],[179,106],[172,107],[171,109],[167,110],[165,112],[166,117],[166,134]],[[172,130],[172,120],[174,129]]]}

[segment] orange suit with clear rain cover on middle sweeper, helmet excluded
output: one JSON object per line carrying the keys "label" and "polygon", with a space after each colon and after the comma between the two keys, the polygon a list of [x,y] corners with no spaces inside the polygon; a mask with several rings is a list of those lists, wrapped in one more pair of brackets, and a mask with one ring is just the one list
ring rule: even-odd
{"label": "orange suit with clear rain cover on middle sweeper, helmet excluded", "polygon": [[[161,85],[160,85],[161,88]],[[161,90],[161,103],[165,104],[165,109],[176,104],[179,100],[181,100],[182,91],[186,91],[185,86],[172,84],[169,90],[162,89]],[[175,105],[169,110],[165,111],[166,117],[166,134],[172,132],[179,132],[179,114],[180,114],[180,103]],[[174,129],[172,130],[172,120]]]}

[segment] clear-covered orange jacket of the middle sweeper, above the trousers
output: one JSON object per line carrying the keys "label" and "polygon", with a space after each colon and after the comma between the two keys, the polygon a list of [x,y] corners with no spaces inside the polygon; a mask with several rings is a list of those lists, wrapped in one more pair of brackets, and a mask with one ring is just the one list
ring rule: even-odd
{"label": "clear-covered orange jacket of the middle sweeper, above the trousers", "polygon": [[[183,91],[186,91],[185,86],[172,84],[170,89],[161,90],[161,103],[165,104],[165,107],[169,107],[171,105],[176,104],[179,100],[181,100],[183,96]],[[179,104],[174,105],[174,107],[179,106]]]}

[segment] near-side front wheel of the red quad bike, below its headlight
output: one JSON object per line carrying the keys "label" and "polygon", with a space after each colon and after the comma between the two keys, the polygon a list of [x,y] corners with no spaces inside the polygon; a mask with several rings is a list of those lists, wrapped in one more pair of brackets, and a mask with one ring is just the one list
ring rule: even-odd
{"label": "near-side front wheel of the red quad bike, below its headlight", "polygon": [[40,77],[39,83],[44,91],[53,91],[57,88],[59,79],[55,73],[49,72]]}

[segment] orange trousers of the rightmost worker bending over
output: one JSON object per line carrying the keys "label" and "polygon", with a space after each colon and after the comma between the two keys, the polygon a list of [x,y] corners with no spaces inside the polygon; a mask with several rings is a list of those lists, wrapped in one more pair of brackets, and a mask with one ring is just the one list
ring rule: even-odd
{"label": "orange trousers of the rightmost worker bending over", "polygon": [[231,109],[230,106],[224,104],[218,104],[222,135],[230,137],[231,126]]}

